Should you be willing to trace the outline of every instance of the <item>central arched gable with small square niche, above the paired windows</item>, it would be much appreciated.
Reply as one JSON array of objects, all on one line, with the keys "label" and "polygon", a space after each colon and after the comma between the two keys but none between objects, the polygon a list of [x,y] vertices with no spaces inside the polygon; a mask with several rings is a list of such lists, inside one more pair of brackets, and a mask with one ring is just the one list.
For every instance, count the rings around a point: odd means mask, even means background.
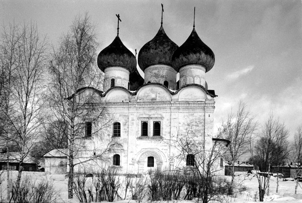
[{"label": "central arched gable with small square niche, above the paired windows", "polygon": [[163,86],[152,84],[138,90],[135,99],[139,101],[171,101],[170,92]]}]

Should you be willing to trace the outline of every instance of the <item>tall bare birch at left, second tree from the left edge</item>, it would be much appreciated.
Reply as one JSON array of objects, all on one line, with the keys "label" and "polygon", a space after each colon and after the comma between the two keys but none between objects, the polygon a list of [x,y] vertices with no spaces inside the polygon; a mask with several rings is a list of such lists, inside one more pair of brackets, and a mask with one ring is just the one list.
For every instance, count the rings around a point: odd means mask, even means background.
[{"label": "tall bare birch at left, second tree from the left edge", "polygon": [[30,23],[21,29],[16,59],[16,81],[12,84],[15,110],[8,116],[14,135],[11,141],[17,146],[20,157],[17,183],[20,183],[23,161],[30,155],[41,132],[43,114],[43,73],[47,61],[47,43],[40,38],[37,27]]}]

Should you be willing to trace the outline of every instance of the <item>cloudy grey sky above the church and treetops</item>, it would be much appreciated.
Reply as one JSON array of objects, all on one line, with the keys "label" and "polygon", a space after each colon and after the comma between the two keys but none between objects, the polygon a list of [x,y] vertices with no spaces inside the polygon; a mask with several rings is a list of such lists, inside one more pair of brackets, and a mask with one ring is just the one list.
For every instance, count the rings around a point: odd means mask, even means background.
[{"label": "cloudy grey sky above the church and treetops", "polygon": [[242,100],[259,127],[272,112],[286,124],[292,138],[302,124],[301,0],[0,0],[0,20],[4,25],[32,21],[39,34],[57,46],[75,16],[88,12],[101,51],[115,38],[115,14],[120,14],[120,39],[138,53],[160,28],[161,3],[164,30],[178,46],[192,31],[196,7],[196,32],[215,54],[214,67],[205,75],[209,89],[218,95],[214,131]]}]

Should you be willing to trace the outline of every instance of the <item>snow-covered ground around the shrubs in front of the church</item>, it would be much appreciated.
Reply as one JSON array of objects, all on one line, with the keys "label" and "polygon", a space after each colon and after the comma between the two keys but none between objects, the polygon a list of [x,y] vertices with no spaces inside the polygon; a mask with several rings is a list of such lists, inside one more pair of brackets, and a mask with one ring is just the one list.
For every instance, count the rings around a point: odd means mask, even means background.
[{"label": "snow-covered ground around the shrubs in front of the church", "polygon": [[[11,171],[11,176],[16,177],[17,171]],[[73,199],[68,199],[67,194],[67,183],[68,179],[65,179],[65,175],[46,175],[44,172],[23,172],[23,175],[31,176],[32,180],[42,180],[42,179],[50,179],[53,181],[55,189],[59,191],[61,199],[60,202],[79,202],[78,199],[74,196]],[[230,177],[228,177],[230,178]],[[3,182],[1,184],[2,187],[2,200],[5,201],[6,198],[6,172],[2,173]],[[254,202],[256,197],[256,201],[259,201],[259,193],[258,193],[258,181],[257,177],[249,178],[245,177],[245,175],[240,175],[235,177],[236,182],[240,182],[243,186],[246,187],[246,190],[243,192],[237,192],[232,197],[226,197],[225,202],[243,202],[243,203],[251,203]],[[275,177],[271,177],[270,180],[270,195],[265,195],[265,201],[269,202],[291,202],[291,203],[302,203],[302,188],[298,186],[297,194],[295,192],[295,181],[280,181],[279,182],[279,193],[276,193],[277,179]],[[302,186],[302,184],[301,184]],[[145,198],[145,201],[147,199]],[[116,202],[127,202],[127,203],[135,203],[135,201],[124,200],[124,201],[116,201]],[[170,202],[178,202],[178,203],[192,203],[194,201],[170,201]]]}]

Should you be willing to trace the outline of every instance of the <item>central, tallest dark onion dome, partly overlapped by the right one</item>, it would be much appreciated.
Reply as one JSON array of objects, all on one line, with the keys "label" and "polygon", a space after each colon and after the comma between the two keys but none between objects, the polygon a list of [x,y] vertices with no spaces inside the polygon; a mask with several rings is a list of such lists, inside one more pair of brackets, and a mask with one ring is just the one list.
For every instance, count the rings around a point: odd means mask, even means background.
[{"label": "central, tallest dark onion dome, partly overlapped by the right one", "polygon": [[138,53],[138,65],[144,71],[150,65],[164,64],[172,66],[171,59],[178,48],[160,26],[153,39],[147,42]]}]

